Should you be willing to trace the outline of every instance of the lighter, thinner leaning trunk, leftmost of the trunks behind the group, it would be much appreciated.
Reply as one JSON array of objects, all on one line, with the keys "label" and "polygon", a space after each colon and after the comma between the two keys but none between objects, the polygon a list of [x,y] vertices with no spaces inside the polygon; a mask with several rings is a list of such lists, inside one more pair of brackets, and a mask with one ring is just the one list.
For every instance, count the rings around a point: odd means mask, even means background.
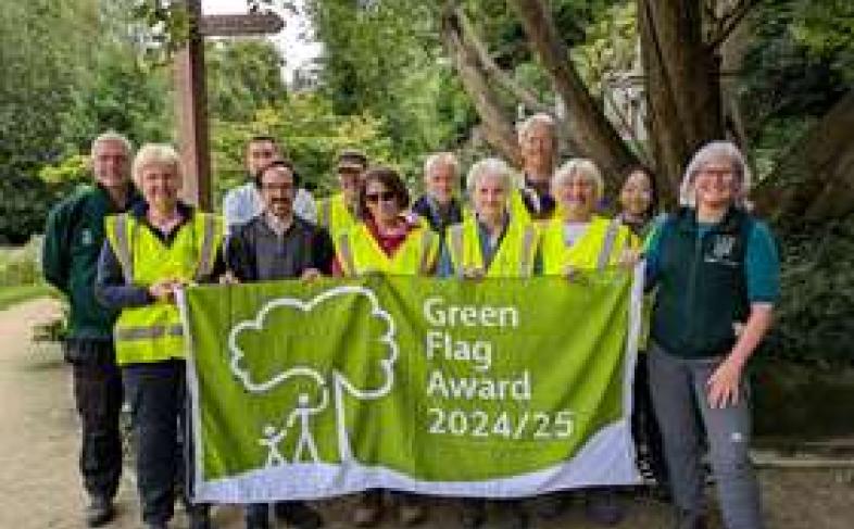
[{"label": "lighter, thinner leaning trunk, leftmost of the trunks behind the group", "polygon": [[511,164],[518,166],[522,159],[512,117],[493,90],[477,50],[464,38],[453,9],[442,13],[442,41],[480,116],[486,140]]}]

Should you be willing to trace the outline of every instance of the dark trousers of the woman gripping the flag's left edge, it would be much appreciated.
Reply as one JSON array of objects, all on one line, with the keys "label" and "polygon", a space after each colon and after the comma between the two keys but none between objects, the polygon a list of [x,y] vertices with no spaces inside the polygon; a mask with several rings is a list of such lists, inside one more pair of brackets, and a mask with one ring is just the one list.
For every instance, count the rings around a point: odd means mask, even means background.
[{"label": "dark trousers of the woman gripping the flag's left edge", "polygon": [[[142,520],[165,524],[174,514],[178,483],[187,483],[185,363],[179,360],[122,368],[137,449],[137,487]],[[186,491],[186,487],[183,492]],[[184,497],[185,503],[187,497]]]}]

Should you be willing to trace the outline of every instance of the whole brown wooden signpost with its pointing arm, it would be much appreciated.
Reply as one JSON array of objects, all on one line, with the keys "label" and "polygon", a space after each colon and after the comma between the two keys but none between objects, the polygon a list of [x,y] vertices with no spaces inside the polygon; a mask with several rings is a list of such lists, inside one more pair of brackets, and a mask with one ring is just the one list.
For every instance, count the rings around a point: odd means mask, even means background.
[{"label": "whole brown wooden signpost with its pointing arm", "polygon": [[185,171],[184,199],[202,211],[212,211],[204,37],[274,34],[285,27],[285,22],[275,13],[202,16],[201,0],[184,3],[190,17],[190,35],[186,46],[175,54],[175,110]]}]

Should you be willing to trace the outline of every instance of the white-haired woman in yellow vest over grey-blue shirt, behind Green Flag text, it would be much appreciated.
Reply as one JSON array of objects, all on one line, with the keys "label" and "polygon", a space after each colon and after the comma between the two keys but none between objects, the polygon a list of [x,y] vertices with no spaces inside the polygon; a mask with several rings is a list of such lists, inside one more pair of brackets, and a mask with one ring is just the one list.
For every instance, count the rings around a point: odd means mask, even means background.
[{"label": "white-haired woman in yellow vest over grey-blue shirt, behind Green Flag text", "polygon": [[[438,275],[464,280],[524,278],[539,270],[539,230],[529,215],[513,214],[511,197],[516,188],[507,164],[499,159],[477,162],[468,171],[466,187],[474,211],[463,224],[448,228]],[[528,527],[520,501],[495,501],[493,507],[501,527]],[[486,521],[486,500],[462,500],[462,527],[474,529]]]}]

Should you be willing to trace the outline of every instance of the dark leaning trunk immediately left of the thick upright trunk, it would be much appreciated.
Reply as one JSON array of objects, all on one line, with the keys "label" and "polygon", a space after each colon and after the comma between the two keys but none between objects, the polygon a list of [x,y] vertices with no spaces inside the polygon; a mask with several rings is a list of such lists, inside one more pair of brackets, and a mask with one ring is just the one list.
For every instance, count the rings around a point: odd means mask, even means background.
[{"label": "dark leaning trunk immediately left of the thick upright trunk", "polygon": [[618,175],[637,163],[637,159],[578,76],[545,2],[508,0],[508,3],[516,9],[532,50],[566,105],[565,128],[569,131],[569,141],[603,169],[610,182],[618,185]]}]

